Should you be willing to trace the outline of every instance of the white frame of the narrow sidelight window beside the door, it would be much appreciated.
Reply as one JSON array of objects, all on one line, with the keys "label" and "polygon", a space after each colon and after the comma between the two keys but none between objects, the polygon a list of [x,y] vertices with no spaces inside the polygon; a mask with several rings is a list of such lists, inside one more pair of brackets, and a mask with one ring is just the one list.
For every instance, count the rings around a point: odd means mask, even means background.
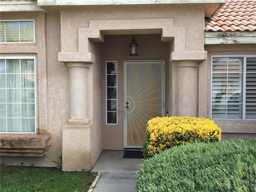
[{"label": "white frame of the narrow sidelight window beside the door", "polygon": [[[116,123],[108,123],[108,63],[116,63]],[[106,125],[117,125],[118,124],[118,62],[117,61],[106,61]],[[114,99],[113,99],[114,100]]]}]

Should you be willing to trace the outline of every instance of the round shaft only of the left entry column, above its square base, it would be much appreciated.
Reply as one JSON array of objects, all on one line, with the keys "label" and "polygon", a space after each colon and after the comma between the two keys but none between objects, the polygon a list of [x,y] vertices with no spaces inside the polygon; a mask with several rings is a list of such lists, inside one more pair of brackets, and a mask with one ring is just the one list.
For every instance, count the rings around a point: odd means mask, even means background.
[{"label": "round shaft only of the left entry column, above its square base", "polygon": [[91,64],[68,62],[70,73],[70,119],[68,124],[90,122],[88,101],[88,70]]}]

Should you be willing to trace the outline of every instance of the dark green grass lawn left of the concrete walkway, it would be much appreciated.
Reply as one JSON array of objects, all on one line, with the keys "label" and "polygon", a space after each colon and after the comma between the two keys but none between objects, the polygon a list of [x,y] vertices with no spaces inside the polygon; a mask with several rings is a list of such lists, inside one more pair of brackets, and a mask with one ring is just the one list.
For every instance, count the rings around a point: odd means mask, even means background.
[{"label": "dark green grass lawn left of the concrete walkway", "polygon": [[1,192],[87,192],[97,173],[62,172],[56,168],[4,166]]}]

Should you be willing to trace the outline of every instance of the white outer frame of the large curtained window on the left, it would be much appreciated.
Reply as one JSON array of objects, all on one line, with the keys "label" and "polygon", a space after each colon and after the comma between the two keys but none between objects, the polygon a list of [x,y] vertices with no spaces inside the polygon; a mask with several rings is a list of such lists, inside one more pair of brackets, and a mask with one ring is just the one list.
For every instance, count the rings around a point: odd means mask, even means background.
[{"label": "white outer frame of the large curtained window on the left", "polygon": [[[34,59],[34,121],[35,127],[34,132],[0,132],[0,134],[36,134],[37,133],[37,101],[36,101],[36,93],[37,93],[37,82],[36,82],[36,56],[0,56],[0,59]],[[6,74],[6,73],[5,73]],[[21,74],[21,73],[19,73]],[[5,88],[6,89],[6,88]],[[6,117],[7,118],[7,117]],[[20,117],[22,118],[22,117]]]}]

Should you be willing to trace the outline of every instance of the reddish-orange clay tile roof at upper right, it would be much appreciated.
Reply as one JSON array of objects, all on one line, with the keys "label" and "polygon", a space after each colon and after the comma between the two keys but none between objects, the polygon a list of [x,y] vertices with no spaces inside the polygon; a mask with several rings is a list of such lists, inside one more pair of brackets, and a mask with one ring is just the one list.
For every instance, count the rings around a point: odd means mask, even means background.
[{"label": "reddish-orange clay tile roof at upper right", "polygon": [[205,18],[205,31],[256,31],[256,0],[227,0],[212,18]]}]

